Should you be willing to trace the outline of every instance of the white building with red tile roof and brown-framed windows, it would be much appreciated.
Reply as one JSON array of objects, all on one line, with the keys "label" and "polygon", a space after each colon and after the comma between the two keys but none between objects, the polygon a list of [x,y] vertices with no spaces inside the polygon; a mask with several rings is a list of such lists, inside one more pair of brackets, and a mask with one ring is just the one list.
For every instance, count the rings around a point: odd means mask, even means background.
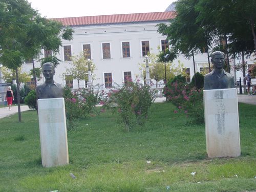
[{"label": "white building with red tile roof and brown-framed windows", "polygon": [[[139,63],[143,63],[147,52],[158,54],[168,46],[166,37],[157,32],[156,25],[168,24],[169,19],[174,17],[175,12],[166,11],[54,19],[74,30],[73,40],[63,40],[63,47],[56,55],[61,62],[56,68],[55,81],[63,85],[70,83],[73,88],[78,88],[77,80],[68,82],[62,74],[71,67],[69,56],[79,55],[86,49],[96,67],[93,85],[100,84],[102,88],[109,88],[113,83],[122,84],[126,78],[139,78],[143,82]],[[44,56],[46,53],[42,50],[42,57]],[[193,59],[185,59],[180,54],[174,60],[175,65],[179,61],[187,68],[189,82],[194,75]],[[207,68],[207,53],[195,55],[195,62],[196,72]],[[249,60],[248,64],[250,62],[253,63],[253,60]],[[231,61],[230,65],[233,63]],[[40,64],[35,62],[35,67],[40,67]],[[24,71],[29,71],[32,63],[25,63],[23,68]],[[240,76],[241,74],[236,75],[237,80]],[[39,83],[42,81],[44,79]],[[80,81],[80,87],[86,86],[85,80]]]}]

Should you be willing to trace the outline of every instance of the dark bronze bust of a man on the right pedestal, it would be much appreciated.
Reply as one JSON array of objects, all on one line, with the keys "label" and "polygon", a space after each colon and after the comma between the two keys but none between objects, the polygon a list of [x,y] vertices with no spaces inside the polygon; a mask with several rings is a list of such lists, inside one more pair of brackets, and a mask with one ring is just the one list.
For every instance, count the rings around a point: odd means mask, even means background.
[{"label": "dark bronze bust of a man on the right pedestal", "polygon": [[224,67],[225,55],[221,51],[211,54],[214,70],[204,76],[204,90],[234,88],[234,77]]}]

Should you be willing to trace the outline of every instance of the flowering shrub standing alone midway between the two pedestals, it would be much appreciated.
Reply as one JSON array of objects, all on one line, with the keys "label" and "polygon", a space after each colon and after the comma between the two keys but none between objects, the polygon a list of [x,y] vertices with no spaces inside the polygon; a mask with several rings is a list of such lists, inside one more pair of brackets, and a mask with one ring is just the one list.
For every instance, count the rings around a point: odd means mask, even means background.
[{"label": "flowering shrub standing alone midway between the two pedestals", "polygon": [[111,107],[120,114],[125,131],[131,131],[136,125],[144,124],[154,99],[155,93],[150,91],[150,86],[139,80],[129,81],[108,93],[104,107]]}]

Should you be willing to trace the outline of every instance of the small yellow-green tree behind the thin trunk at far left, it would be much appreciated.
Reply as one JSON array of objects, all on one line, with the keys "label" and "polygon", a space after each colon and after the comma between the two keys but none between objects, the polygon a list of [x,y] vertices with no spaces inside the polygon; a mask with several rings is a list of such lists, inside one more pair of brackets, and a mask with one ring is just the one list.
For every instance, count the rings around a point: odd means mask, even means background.
[{"label": "small yellow-green tree behind the thin trunk at far left", "polygon": [[[6,67],[3,67],[2,69],[2,73],[3,73],[3,79],[6,82],[12,82],[12,80],[15,78],[15,70],[9,70]],[[20,87],[20,83],[26,83],[28,81],[31,80],[31,75],[26,73],[26,72],[22,72],[22,68],[18,68],[18,82],[19,82],[19,87]]]}]

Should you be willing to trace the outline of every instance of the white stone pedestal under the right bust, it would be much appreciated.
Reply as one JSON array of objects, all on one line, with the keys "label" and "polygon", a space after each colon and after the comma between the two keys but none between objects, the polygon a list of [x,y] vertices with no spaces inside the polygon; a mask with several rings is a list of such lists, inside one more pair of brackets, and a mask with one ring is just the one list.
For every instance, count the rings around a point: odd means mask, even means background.
[{"label": "white stone pedestal under the right bust", "polygon": [[208,157],[240,156],[237,90],[204,90],[203,95]]}]

